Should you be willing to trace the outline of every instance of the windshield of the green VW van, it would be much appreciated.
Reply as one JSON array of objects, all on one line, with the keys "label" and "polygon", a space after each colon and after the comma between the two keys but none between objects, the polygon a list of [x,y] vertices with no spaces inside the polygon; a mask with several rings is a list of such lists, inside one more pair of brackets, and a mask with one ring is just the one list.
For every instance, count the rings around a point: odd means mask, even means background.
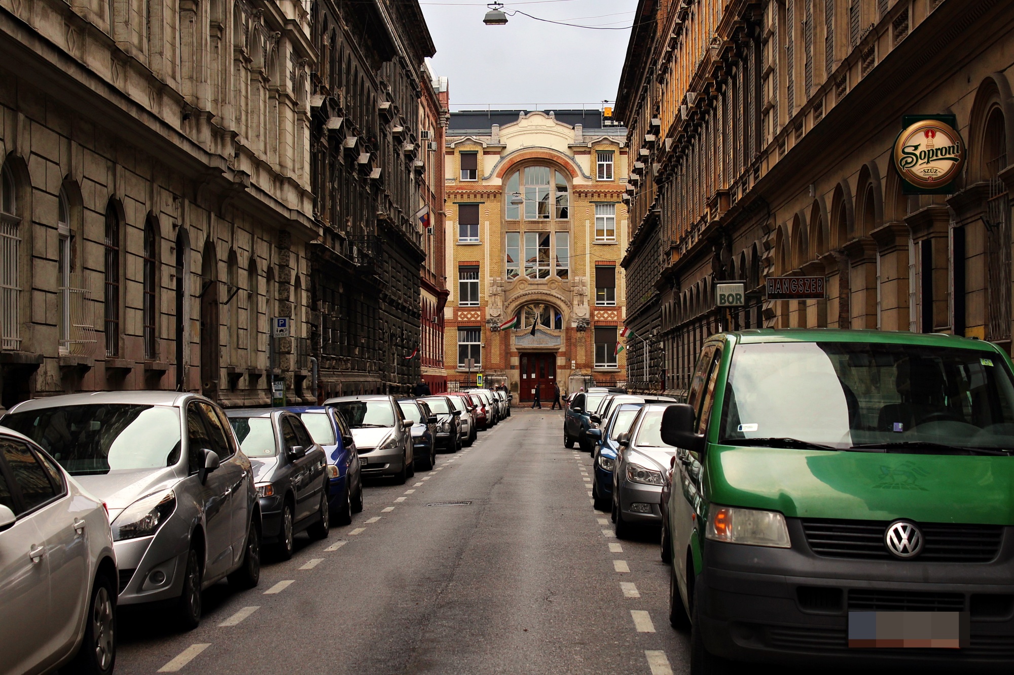
[{"label": "windshield of the green VW van", "polygon": [[732,355],[720,439],[831,448],[936,443],[1014,450],[1002,357],[916,345],[768,343]]}]

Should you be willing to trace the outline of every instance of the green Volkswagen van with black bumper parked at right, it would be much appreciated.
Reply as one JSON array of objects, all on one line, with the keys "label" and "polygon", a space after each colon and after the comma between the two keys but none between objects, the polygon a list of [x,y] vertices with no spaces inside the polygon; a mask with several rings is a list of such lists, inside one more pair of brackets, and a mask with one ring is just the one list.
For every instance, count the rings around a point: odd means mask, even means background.
[{"label": "green Volkswagen van with black bumper parked at right", "polygon": [[994,345],[876,330],[709,339],[662,439],[670,621],[731,661],[1014,665],[1014,379]]}]

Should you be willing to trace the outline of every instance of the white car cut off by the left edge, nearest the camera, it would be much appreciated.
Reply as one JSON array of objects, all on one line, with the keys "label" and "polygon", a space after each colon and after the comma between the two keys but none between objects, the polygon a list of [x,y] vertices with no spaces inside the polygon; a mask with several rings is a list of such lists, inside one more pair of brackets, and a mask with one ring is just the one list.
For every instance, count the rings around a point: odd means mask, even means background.
[{"label": "white car cut off by the left edge, nearest the camera", "polygon": [[112,673],[118,584],[105,505],[0,427],[0,673]]}]

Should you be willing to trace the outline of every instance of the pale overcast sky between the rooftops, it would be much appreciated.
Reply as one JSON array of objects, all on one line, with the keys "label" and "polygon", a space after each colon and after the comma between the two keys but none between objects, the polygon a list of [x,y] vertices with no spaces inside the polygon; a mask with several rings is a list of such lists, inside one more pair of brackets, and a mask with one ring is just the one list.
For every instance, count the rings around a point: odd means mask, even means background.
[{"label": "pale overcast sky between the rooftops", "polygon": [[421,0],[437,54],[431,66],[450,80],[451,109],[601,105],[617,95],[637,0],[524,0],[504,3],[539,18],[623,30],[588,30],[516,14],[486,25],[486,3]]}]

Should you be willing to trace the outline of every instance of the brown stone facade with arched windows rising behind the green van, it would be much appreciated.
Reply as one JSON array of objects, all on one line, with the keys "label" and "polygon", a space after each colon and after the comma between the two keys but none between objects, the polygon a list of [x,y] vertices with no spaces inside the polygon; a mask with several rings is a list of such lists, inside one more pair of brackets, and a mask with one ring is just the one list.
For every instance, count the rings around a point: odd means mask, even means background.
[{"label": "brown stone facade with arched windows rising behind the green van", "polygon": [[[650,167],[624,262],[653,289],[631,303],[657,326],[647,382],[685,390],[703,340],[728,327],[1010,350],[1010,3],[643,0],[635,25],[617,116]],[[952,195],[906,195],[891,165],[918,114],[956,116],[968,152]],[[766,298],[768,277],[792,275],[824,277],[826,298]],[[715,308],[720,280],[746,282],[744,308]]]}]

